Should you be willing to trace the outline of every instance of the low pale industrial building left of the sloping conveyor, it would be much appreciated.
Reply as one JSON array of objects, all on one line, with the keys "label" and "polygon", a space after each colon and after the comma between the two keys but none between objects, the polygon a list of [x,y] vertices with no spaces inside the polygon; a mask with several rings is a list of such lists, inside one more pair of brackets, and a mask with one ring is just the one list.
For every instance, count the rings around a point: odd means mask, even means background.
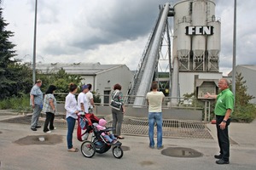
[{"label": "low pale industrial building left of the sloping conveyor", "polygon": [[37,64],[37,71],[47,74],[63,68],[68,74],[80,75],[84,84],[92,84],[92,91],[101,97],[102,104],[109,104],[109,94],[113,85],[119,83],[127,94],[133,72],[126,65],[101,65],[100,63],[51,63]]}]

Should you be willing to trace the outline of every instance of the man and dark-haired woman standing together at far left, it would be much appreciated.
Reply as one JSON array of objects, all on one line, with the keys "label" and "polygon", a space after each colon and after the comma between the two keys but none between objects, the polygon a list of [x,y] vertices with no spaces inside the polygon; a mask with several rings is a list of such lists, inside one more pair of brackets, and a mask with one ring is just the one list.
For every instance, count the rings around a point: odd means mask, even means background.
[{"label": "man and dark-haired woman standing together at far left", "polygon": [[44,133],[51,133],[51,130],[55,130],[54,119],[56,112],[56,99],[54,93],[56,87],[55,85],[50,85],[45,92],[45,95],[43,95],[40,89],[41,86],[42,81],[37,80],[30,92],[30,104],[33,109],[31,129],[32,131],[37,131],[37,128],[41,127],[38,125],[38,118],[41,111],[43,111],[46,114],[43,131]]}]

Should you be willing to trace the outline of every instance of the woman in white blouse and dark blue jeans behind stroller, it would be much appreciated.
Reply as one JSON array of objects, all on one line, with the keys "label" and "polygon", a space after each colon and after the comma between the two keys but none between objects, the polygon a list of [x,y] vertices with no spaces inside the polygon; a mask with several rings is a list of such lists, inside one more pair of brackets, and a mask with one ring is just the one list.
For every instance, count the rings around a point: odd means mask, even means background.
[{"label": "woman in white blouse and dark blue jeans behind stroller", "polygon": [[73,129],[78,119],[79,113],[78,102],[74,94],[78,91],[78,86],[74,83],[69,84],[69,94],[66,96],[65,109],[67,120],[67,149],[71,152],[79,151],[78,148],[73,147]]}]

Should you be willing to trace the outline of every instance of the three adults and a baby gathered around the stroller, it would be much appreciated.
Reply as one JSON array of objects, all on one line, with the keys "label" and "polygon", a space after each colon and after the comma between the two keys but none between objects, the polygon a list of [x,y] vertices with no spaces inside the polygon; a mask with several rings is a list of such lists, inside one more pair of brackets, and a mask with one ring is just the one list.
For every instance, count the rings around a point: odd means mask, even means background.
[{"label": "three adults and a baby gathered around the stroller", "polygon": [[[77,152],[79,149],[73,147],[73,129],[75,126],[75,122],[78,119],[78,114],[80,111],[84,111],[85,113],[92,113],[94,102],[93,95],[90,93],[91,84],[87,84],[82,86],[82,92],[78,96],[78,100],[75,97],[75,94],[78,91],[78,86],[74,83],[69,84],[69,94],[65,100],[65,110],[67,111],[66,120],[67,120],[67,150],[72,152]],[[115,84],[113,86],[115,93],[118,90],[118,94],[115,95],[115,100],[118,100],[120,103],[124,104],[123,94],[120,92],[121,86],[119,84]],[[124,118],[125,106],[122,105],[122,109],[120,111],[113,111],[113,134],[112,133],[104,133],[103,136],[105,139],[108,139],[109,142],[115,142],[116,139],[124,139],[124,137],[120,136],[121,126]],[[99,129],[104,129],[106,126],[106,121],[101,119],[99,121]]]}]

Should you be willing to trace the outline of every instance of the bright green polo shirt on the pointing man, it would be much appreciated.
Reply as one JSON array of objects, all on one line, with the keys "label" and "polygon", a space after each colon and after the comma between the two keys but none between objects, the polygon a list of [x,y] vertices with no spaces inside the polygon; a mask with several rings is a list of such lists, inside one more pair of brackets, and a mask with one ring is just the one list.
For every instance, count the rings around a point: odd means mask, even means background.
[{"label": "bright green polo shirt on the pointing man", "polygon": [[228,109],[234,111],[234,94],[230,88],[224,89],[218,94],[214,113],[218,116],[225,116]]}]

